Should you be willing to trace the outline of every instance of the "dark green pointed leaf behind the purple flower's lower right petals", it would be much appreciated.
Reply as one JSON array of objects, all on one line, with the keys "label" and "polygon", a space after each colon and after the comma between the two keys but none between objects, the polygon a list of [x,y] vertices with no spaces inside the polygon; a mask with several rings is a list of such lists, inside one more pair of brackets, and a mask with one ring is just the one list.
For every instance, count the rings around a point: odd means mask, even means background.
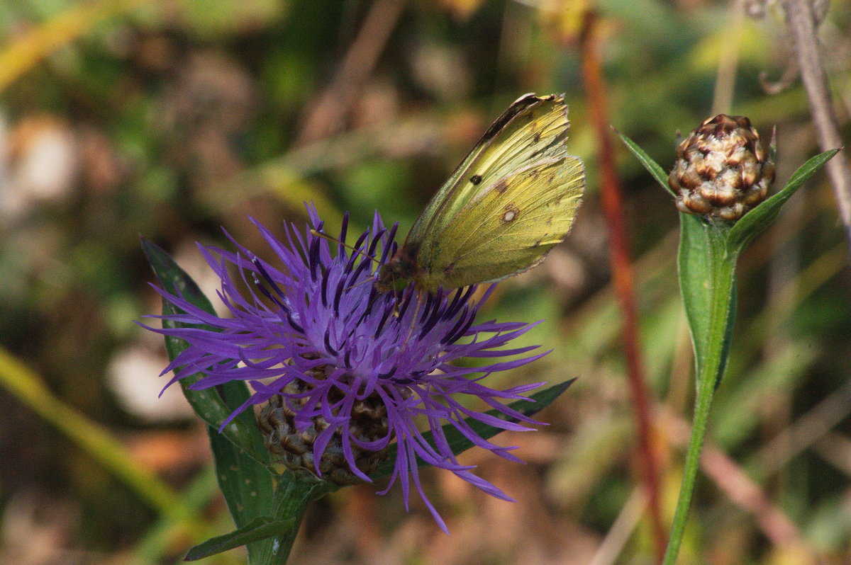
[{"label": "dark green pointed leaf behind the purple flower's lower right petals", "polygon": [[[552,404],[552,401],[558,398],[564,391],[568,390],[568,387],[574,383],[576,379],[571,379],[569,381],[564,381],[560,384],[553,385],[552,387],[547,387],[544,390],[538,391],[530,396],[530,400],[516,400],[511,404],[508,404],[511,409],[517,410],[518,412],[523,413],[524,415],[534,415],[540,412],[540,410],[544,410],[547,406]],[[485,412],[487,415],[495,416],[505,421],[516,421],[514,418],[509,418],[506,415],[502,414],[497,410],[488,410]],[[472,418],[465,418],[464,420],[468,426],[470,426],[479,436],[482,438],[488,439],[494,437],[497,433],[502,432],[503,430],[499,427],[488,426],[488,424],[484,424],[481,421],[473,420]],[[469,439],[465,438],[461,432],[459,432],[452,424],[446,424],[443,426],[443,433],[446,434],[446,439],[449,444],[449,447],[452,449],[452,452],[455,455],[460,454],[462,451],[466,449],[470,449],[473,444]],[[431,432],[426,432],[423,434],[426,440],[431,443]],[[378,479],[382,477],[389,477],[393,472],[393,466],[396,461],[396,449],[397,445],[391,445],[389,455],[387,455],[387,460],[384,461],[375,472],[369,477],[373,479]],[[417,466],[426,466],[426,462],[423,460],[417,459]]]}]

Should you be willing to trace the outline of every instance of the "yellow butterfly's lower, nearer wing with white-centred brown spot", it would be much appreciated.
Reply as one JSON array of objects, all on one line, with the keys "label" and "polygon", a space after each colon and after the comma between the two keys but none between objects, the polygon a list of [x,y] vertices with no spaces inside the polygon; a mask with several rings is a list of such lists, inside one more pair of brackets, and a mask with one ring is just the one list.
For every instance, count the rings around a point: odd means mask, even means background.
[{"label": "yellow butterfly's lower, nearer wing with white-centred brown spot", "polygon": [[[523,161],[521,161],[523,162]],[[479,192],[420,253],[421,289],[500,280],[540,263],[568,233],[585,187],[578,157],[528,162]]]}]

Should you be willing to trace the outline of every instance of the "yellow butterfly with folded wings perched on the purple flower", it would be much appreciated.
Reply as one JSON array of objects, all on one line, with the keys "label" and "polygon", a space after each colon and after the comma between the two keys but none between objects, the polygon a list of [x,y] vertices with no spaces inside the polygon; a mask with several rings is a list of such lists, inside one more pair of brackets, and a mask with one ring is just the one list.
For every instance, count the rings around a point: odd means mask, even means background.
[{"label": "yellow butterfly with folded wings perched on the purple flower", "polygon": [[585,166],[568,155],[563,96],[526,94],[488,127],[380,269],[379,291],[419,292],[505,279],[568,234]]}]

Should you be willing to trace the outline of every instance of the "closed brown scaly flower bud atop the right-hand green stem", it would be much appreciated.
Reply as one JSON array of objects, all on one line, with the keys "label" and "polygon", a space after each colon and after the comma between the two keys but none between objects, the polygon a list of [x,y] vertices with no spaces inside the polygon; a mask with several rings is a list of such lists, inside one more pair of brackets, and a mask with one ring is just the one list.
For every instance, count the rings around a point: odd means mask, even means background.
[{"label": "closed brown scaly flower bud atop the right-hand green stem", "polygon": [[765,200],[774,162],[745,116],[705,120],[677,147],[668,184],[677,209],[735,221]]}]

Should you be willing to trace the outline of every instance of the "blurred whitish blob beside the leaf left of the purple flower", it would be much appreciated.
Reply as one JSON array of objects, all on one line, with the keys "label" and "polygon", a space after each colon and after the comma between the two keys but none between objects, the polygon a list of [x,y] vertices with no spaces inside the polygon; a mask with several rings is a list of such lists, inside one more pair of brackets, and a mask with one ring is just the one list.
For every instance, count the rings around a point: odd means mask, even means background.
[{"label": "blurred whitish blob beside the leaf left of the purple flower", "polygon": [[[158,341],[162,344],[162,338]],[[164,354],[153,353],[139,344],[124,347],[112,357],[106,370],[107,383],[124,410],[151,423],[194,417],[180,385],[175,383],[159,396],[171,378],[170,373],[158,376],[166,364],[168,359]]]}]

